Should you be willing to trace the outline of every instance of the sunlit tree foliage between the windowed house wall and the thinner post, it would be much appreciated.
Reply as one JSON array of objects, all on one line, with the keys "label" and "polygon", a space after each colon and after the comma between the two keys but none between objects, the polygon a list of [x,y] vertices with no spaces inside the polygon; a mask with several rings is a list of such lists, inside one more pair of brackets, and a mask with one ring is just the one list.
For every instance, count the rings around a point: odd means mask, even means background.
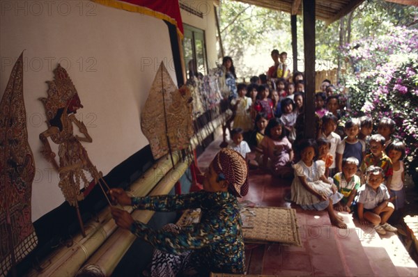
[{"label": "sunlit tree foliage between the windowed house wall and the thinner post", "polygon": [[224,54],[233,58],[238,77],[265,73],[272,49],[291,52],[289,14],[238,1],[222,1],[219,13]]}]

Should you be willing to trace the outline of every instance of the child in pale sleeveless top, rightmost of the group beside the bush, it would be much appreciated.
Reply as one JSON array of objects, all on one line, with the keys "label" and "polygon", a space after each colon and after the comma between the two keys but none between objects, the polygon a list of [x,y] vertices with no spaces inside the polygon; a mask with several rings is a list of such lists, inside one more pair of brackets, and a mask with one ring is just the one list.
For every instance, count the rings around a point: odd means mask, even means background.
[{"label": "child in pale sleeveless top, rightmost of the group beside the bush", "polygon": [[402,209],[405,204],[405,171],[403,166],[403,157],[405,157],[405,144],[402,141],[393,141],[386,148],[387,155],[392,160],[393,173],[392,182],[390,182],[389,193],[394,197],[395,210]]}]

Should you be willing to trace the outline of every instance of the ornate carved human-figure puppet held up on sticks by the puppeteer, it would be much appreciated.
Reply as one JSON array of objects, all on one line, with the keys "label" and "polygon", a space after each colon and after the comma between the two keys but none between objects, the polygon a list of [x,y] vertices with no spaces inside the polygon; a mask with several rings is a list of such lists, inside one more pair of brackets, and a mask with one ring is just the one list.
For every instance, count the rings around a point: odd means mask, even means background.
[{"label": "ornate carved human-figure puppet held up on sticks by the puppeteer", "polygon": [[[96,184],[101,177],[80,143],[80,141],[91,143],[93,140],[84,123],[75,117],[77,110],[83,106],[74,84],[61,65],[54,70],[54,81],[47,81],[47,84],[48,97],[40,99],[45,106],[48,125],[48,129],[39,135],[43,144],[42,154],[59,172],[59,187],[65,200],[77,207],[77,201],[84,199],[80,185],[83,184],[83,187],[87,188]],[[84,136],[73,133],[73,123]],[[52,152],[48,138],[59,145],[59,164],[56,162],[56,155]],[[88,176],[93,177],[91,182],[88,181]]]}]

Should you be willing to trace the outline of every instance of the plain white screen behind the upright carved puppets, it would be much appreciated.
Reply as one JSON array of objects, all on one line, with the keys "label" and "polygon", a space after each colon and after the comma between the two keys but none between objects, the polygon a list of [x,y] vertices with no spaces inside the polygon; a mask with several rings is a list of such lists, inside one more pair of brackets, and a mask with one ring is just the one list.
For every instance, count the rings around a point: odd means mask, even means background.
[{"label": "plain white screen behind the upright carved puppets", "polygon": [[[35,156],[32,220],[63,203],[59,177],[40,155],[47,129],[45,81],[58,62],[67,69],[84,105],[77,117],[93,143],[83,143],[104,175],[148,144],[140,113],[161,61],[176,74],[167,24],[91,1],[0,1],[0,97],[15,60],[24,52],[24,102]],[[168,63],[168,65],[167,65]],[[176,82],[176,81],[175,81]],[[52,143],[53,144],[53,143]]]}]

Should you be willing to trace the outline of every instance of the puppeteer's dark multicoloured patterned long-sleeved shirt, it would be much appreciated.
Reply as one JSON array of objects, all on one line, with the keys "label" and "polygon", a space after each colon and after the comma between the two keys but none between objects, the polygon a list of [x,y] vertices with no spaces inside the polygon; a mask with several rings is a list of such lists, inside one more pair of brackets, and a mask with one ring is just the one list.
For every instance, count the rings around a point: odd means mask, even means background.
[{"label": "puppeteer's dark multicoloured patterned long-sleeved shirt", "polygon": [[194,251],[196,268],[212,272],[239,273],[245,270],[244,240],[238,200],[229,192],[197,191],[176,196],[132,198],[136,209],[172,212],[201,208],[199,223],[183,226],[180,232],[153,230],[134,221],[131,232],[160,251],[178,255]]}]

